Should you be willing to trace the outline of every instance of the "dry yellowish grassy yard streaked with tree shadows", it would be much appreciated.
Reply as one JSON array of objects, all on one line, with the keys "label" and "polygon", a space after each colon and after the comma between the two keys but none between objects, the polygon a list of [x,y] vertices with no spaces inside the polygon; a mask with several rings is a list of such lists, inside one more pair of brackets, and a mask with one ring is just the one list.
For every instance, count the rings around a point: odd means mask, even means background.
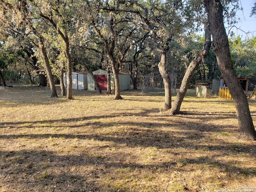
[{"label": "dry yellowish grassy yard streaked with tree shadows", "polygon": [[190,92],[169,116],[163,91],[0,89],[0,192],[256,191],[256,142],[238,140],[233,102]]}]

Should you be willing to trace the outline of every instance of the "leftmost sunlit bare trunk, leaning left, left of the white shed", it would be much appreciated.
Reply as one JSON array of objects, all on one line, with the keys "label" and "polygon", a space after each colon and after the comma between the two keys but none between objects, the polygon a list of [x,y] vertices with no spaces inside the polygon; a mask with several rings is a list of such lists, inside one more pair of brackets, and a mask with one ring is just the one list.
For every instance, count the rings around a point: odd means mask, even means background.
[{"label": "leftmost sunlit bare trunk, leaning left, left of the white shed", "polygon": [[50,67],[50,62],[48,60],[48,56],[47,56],[45,47],[42,43],[40,44],[40,50],[41,50],[42,55],[44,57],[45,68],[46,68],[46,72],[47,72],[47,75],[48,75],[48,80],[49,80],[49,83],[50,83],[50,89],[52,91],[51,97],[58,97],[56,87],[55,87],[55,84],[54,84],[54,78],[52,76],[52,70],[51,70],[51,67]]}]

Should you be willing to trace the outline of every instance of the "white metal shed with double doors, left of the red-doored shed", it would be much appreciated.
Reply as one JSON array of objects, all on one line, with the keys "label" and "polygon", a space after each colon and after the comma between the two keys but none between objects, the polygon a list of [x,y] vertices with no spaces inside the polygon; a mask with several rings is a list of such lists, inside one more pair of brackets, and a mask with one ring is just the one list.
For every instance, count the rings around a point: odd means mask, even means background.
[{"label": "white metal shed with double doors, left of the red-doored shed", "polygon": [[[72,72],[72,89],[84,90],[87,89],[88,72]],[[67,88],[67,72],[63,74],[63,82]]]}]

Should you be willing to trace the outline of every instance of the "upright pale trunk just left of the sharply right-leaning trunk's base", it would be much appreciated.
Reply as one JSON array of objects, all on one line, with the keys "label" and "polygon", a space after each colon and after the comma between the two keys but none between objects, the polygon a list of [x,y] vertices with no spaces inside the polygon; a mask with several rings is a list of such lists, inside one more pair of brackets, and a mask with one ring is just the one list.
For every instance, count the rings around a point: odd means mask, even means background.
[{"label": "upright pale trunk just left of the sharply right-leaning trunk's base", "polygon": [[172,107],[172,85],[170,81],[170,76],[166,72],[166,60],[166,51],[162,50],[161,60],[158,63],[158,69],[164,80],[164,110],[168,110]]}]

